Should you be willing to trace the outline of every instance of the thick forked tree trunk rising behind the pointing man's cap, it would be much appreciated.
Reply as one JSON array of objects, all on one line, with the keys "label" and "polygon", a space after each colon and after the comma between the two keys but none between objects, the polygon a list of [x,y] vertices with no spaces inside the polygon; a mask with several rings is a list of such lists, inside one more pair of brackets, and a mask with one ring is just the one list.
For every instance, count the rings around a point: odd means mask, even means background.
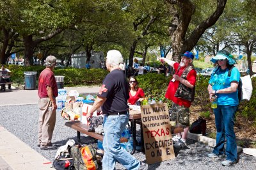
[{"label": "thick forked tree trunk rising behind the pointing man's cap", "polygon": [[173,13],[173,19],[169,27],[172,38],[172,58],[174,61],[179,61],[180,54],[186,50],[192,50],[204,31],[216,23],[223,13],[227,0],[217,0],[214,13],[196,26],[188,39],[186,39],[186,33],[191,22],[191,16],[195,13],[195,5],[189,0],[166,0],[166,3],[170,4],[170,12]]}]

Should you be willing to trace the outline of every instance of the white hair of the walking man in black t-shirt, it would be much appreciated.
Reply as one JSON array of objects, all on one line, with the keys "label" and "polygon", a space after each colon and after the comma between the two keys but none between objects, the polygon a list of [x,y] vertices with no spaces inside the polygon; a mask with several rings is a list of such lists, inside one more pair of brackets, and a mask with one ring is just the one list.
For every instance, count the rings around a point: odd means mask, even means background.
[{"label": "white hair of the walking man in black t-shirt", "polygon": [[108,62],[109,65],[112,67],[117,67],[117,66],[119,67],[120,65],[121,67],[123,67],[122,65],[124,65],[123,64],[124,58],[122,57],[121,52],[119,52],[118,50],[109,50],[107,53],[106,62]]}]

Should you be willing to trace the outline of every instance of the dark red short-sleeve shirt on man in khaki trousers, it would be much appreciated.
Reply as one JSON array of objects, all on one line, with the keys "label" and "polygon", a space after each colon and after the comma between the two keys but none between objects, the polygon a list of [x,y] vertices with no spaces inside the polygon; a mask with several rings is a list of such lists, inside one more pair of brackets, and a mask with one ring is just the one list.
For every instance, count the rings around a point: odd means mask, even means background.
[{"label": "dark red short-sleeve shirt on man in khaki trousers", "polygon": [[39,75],[38,79],[38,97],[45,98],[48,97],[47,94],[47,86],[52,88],[53,96],[58,97],[58,86],[56,79],[54,77],[54,73],[50,70],[45,68]]}]

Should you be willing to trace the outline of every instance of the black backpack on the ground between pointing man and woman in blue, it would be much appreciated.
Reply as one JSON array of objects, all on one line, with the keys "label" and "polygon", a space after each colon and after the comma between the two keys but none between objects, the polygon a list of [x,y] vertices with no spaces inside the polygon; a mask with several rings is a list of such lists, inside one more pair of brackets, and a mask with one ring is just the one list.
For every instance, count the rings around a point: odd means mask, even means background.
[{"label": "black backpack on the ground between pointing man and woman in blue", "polygon": [[189,129],[190,133],[206,135],[206,120],[199,118],[194,121]]}]

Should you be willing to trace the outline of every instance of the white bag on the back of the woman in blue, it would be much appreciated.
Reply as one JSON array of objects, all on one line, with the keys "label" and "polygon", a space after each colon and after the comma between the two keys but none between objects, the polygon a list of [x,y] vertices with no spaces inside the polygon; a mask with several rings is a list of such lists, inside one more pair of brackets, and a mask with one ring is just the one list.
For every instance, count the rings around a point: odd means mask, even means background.
[{"label": "white bag on the back of the woman in blue", "polygon": [[242,95],[241,100],[250,100],[252,97],[252,79],[250,75],[246,75],[244,77],[241,77],[242,82]]}]

